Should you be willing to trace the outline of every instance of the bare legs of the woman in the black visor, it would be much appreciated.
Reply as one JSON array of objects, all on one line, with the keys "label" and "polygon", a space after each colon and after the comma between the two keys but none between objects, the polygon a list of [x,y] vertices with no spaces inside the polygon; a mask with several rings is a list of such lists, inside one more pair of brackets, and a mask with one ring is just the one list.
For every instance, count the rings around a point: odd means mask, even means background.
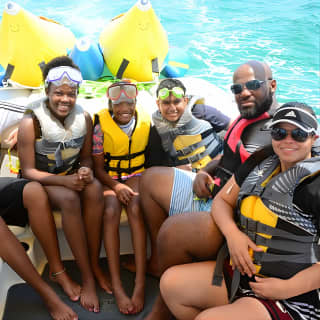
[{"label": "bare legs of the woman in the black visor", "polygon": [[267,309],[254,298],[228,304],[225,284],[211,284],[214,267],[214,261],[198,262],[172,267],[163,274],[161,293],[177,319],[271,319]]}]

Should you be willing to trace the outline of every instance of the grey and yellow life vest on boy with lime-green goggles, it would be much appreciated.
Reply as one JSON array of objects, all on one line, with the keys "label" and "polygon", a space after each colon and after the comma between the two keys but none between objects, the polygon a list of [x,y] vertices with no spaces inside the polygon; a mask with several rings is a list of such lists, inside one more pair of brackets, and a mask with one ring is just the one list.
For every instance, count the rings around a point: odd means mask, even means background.
[{"label": "grey and yellow life vest on boy with lime-green goggles", "polygon": [[159,110],[153,113],[153,123],[161,137],[162,147],[177,165],[189,164],[195,169],[205,167],[221,153],[223,143],[208,121],[197,119],[191,108],[198,97],[193,97],[180,119],[172,123]]}]

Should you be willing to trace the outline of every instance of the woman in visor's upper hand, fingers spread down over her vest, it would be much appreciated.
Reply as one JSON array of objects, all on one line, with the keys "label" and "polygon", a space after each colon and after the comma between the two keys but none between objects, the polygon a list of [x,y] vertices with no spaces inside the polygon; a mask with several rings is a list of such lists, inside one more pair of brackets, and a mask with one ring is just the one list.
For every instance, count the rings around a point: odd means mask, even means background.
[{"label": "woman in visor's upper hand, fingers spread down over her vest", "polygon": [[256,267],[252,262],[249,250],[263,251],[247,235],[240,230],[226,237],[232,261],[232,269],[237,268],[242,275],[252,277],[256,273]]}]

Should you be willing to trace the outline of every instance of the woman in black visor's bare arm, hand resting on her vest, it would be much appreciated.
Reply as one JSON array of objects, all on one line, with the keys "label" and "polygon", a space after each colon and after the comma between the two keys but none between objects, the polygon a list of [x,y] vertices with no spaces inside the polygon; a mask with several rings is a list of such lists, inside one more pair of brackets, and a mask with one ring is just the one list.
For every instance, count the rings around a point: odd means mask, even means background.
[{"label": "woman in black visor's bare arm, hand resting on her vest", "polygon": [[211,215],[217,226],[225,236],[232,260],[232,268],[237,268],[241,274],[252,276],[256,268],[249,255],[249,249],[262,251],[254,242],[238,229],[233,213],[236,208],[240,187],[234,176],[216,195],[211,208]]}]

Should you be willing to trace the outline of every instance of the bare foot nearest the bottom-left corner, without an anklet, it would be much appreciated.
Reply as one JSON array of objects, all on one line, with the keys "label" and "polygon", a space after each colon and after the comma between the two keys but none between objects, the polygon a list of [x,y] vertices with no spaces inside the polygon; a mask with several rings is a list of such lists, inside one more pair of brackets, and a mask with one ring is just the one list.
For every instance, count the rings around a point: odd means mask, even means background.
[{"label": "bare foot nearest the bottom-left corner, without an anklet", "polygon": [[63,303],[55,293],[50,294],[48,298],[44,298],[44,302],[54,320],[78,320],[77,314]]}]

